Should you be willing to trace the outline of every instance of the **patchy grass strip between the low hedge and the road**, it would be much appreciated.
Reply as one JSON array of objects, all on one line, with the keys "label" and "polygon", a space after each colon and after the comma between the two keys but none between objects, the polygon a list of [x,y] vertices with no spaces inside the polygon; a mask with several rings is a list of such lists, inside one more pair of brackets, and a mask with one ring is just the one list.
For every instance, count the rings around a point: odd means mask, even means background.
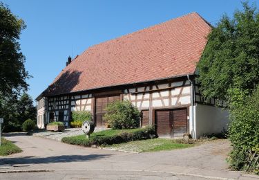
[{"label": "patchy grass strip between the low hedge and the road", "polygon": [[102,147],[129,152],[157,152],[163,150],[178,150],[193,146],[193,144],[175,143],[175,141],[171,139],[153,138],[142,141],[106,145]]}]

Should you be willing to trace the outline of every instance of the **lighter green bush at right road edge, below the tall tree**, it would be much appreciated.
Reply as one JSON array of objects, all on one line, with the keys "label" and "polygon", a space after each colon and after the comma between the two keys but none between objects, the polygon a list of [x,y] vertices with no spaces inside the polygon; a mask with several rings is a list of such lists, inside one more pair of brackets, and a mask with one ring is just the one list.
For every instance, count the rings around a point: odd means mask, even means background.
[{"label": "lighter green bush at right road edge, below the tall tree", "polygon": [[259,173],[258,165],[253,164],[255,159],[251,157],[251,154],[259,156],[259,87],[247,98],[238,91],[232,93],[233,97],[242,101],[234,101],[231,106],[229,139],[233,151],[229,163],[235,170],[247,170],[247,165],[251,164],[249,171]]}]

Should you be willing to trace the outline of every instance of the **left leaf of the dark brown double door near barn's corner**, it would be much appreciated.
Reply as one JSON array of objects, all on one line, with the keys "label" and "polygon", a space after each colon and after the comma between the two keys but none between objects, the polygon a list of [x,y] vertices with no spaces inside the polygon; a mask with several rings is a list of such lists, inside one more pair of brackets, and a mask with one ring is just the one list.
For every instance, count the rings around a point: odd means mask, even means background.
[{"label": "left leaf of the dark brown double door near barn's corner", "polygon": [[155,111],[155,129],[160,137],[171,137],[171,120],[169,110]]}]

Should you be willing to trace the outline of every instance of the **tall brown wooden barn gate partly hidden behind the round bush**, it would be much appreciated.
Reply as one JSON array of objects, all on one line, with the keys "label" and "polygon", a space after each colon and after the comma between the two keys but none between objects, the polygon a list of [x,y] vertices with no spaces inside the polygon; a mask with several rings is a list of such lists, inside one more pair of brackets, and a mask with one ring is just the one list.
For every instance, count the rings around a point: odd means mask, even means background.
[{"label": "tall brown wooden barn gate partly hidden behind the round bush", "polygon": [[95,102],[95,125],[96,126],[105,126],[106,125],[106,120],[104,118],[104,115],[106,114],[106,107],[108,103],[111,103],[115,100],[119,100],[119,95],[116,96],[105,96],[105,97],[99,97],[96,98]]}]

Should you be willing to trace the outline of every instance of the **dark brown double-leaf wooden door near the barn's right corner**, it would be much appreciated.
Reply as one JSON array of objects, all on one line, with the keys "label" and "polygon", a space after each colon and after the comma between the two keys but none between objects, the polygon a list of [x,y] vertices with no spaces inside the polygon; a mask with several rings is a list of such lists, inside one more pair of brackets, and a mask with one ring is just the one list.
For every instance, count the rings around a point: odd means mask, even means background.
[{"label": "dark brown double-leaf wooden door near the barn's right corner", "polygon": [[187,132],[186,109],[155,111],[155,127],[158,136],[182,137]]}]

